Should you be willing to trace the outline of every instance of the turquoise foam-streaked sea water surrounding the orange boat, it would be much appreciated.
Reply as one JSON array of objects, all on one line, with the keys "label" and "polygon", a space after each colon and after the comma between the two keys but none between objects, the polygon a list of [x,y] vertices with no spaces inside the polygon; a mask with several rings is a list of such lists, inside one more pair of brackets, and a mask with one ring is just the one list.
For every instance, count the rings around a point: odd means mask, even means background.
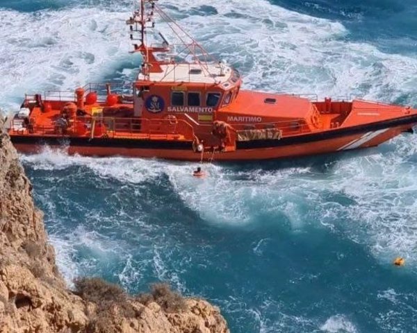
[{"label": "turquoise foam-streaked sea water surrounding the orange boat", "polygon": [[[160,3],[248,88],[417,104],[414,1]],[[0,8],[3,108],[26,91],[134,77],[130,1]],[[219,305],[233,333],[417,330],[415,135],[360,153],[210,164],[204,180],[190,177],[197,164],[47,148],[22,162],[68,281],[98,275],[132,293],[169,281]]]}]

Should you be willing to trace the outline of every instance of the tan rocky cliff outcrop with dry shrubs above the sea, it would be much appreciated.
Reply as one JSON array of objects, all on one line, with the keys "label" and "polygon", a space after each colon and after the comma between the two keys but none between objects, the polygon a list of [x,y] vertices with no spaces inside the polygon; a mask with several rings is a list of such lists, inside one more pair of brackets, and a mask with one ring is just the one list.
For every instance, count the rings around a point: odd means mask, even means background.
[{"label": "tan rocky cliff outcrop with dry shrubs above the sea", "polygon": [[168,311],[157,298],[126,296],[104,307],[67,289],[31,191],[0,119],[0,332],[229,332],[204,300],[184,298],[181,309]]}]

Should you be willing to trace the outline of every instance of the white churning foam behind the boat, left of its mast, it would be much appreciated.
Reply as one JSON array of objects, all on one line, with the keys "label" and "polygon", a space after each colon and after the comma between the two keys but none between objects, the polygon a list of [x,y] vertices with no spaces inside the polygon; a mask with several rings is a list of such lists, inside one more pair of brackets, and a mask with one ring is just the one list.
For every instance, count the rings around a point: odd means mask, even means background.
[{"label": "white churning foam behind the boat, left of its mast", "polygon": [[0,107],[17,108],[25,92],[73,91],[112,74],[129,59],[129,9],[1,10]]}]

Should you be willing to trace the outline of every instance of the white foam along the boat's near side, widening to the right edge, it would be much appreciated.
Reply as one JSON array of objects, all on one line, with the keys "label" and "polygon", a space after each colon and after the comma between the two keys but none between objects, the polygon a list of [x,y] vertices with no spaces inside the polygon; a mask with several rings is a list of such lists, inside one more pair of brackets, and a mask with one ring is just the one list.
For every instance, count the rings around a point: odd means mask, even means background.
[{"label": "white foam along the boat's near side, widening to the right edge", "polygon": [[[221,165],[204,164],[208,173],[196,179],[191,173],[198,164],[172,163],[123,157],[97,159],[68,156],[46,148],[40,155],[23,155],[34,169],[54,170],[83,166],[101,178],[141,183],[167,175],[185,205],[202,219],[216,224],[258,223],[260,214],[300,230],[311,217],[369,248],[382,263],[394,257],[416,265],[417,210],[415,169],[407,163],[417,149],[414,137],[395,140],[396,151],[339,160],[325,174],[311,167],[263,171],[236,171]],[[339,194],[349,205],[329,200],[323,193]],[[276,218],[273,216],[277,216]]]}]

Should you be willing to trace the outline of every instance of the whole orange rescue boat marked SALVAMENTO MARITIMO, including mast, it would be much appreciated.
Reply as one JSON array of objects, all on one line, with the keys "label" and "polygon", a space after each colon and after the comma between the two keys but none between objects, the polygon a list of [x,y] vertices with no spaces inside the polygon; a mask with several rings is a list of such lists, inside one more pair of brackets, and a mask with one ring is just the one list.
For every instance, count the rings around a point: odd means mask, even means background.
[{"label": "whole orange rescue boat marked SALVAMENTO MARITIMO, including mast", "polygon": [[[147,41],[155,15],[181,44],[161,33],[158,44]],[[417,123],[410,107],[240,89],[238,71],[211,58],[156,0],[141,0],[126,24],[143,58],[135,82],[26,95],[6,120],[19,151],[46,144],[80,155],[265,160],[377,146]]]}]

